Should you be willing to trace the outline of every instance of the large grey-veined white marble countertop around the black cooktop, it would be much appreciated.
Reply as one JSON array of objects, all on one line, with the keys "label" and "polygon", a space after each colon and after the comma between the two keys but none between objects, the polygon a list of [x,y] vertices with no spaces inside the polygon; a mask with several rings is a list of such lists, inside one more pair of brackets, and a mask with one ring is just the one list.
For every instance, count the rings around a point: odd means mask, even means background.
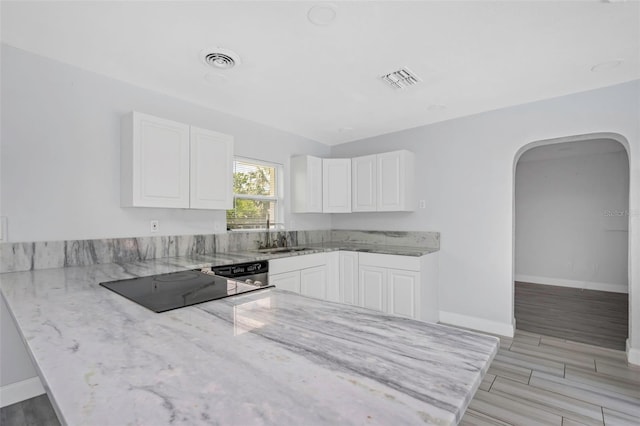
[{"label": "large grey-veined white marble countertop around the black cooktop", "polygon": [[0,274],[63,423],[457,423],[498,340],[266,289],[162,314],[99,282],[233,254]]}]

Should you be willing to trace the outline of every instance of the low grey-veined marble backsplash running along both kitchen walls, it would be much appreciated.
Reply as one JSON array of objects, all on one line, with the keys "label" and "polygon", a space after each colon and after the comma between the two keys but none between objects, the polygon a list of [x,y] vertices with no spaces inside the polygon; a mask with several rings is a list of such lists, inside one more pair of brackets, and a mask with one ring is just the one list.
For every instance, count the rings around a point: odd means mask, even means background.
[{"label": "low grey-veined marble backsplash running along both kitchen walls", "polygon": [[[314,246],[325,250],[369,244],[379,253],[420,256],[440,247],[437,232],[272,231],[0,243],[0,273],[66,266],[127,263],[170,257],[217,255],[266,246]],[[360,247],[359,249],[362,249]],[[416,251],[417,249],[417,251]],[[422,254],[420,254],[422,250]],[[427,250],[427,251],[425,251]],[[400,253],[398,253],[400,252]],[[417,253],[417,254],[416,254]]]}]

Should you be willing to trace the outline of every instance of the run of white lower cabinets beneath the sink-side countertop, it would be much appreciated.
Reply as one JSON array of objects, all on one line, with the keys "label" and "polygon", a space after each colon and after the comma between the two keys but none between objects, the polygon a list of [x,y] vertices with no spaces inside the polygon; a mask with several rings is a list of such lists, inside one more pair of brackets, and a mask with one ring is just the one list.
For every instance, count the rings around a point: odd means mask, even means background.
[{"label": "run of white lower cabinets beneath the sink-side countertop", "polygon": [[269,284],[322,300],[438,321],[438,254],[339,251],[269,261]]}]

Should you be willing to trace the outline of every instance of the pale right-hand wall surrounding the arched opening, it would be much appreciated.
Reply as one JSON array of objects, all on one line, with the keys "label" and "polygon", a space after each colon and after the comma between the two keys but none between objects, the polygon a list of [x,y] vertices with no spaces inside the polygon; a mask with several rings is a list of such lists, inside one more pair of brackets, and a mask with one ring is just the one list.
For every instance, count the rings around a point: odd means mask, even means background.
[{"label": "pale right-hand wall surrounding the arched opening", "polygon": [[442,319],[507,332],[513,325],[516,156],[536,141],[618,133],[630,149],[630,333],[640,363],[639,103],[640,81],[634,81],[336,146],[332,155],[345,157],[413,151],[416,201],[427,200],[427,208],[336,215],[333,227],[440,231]]}]

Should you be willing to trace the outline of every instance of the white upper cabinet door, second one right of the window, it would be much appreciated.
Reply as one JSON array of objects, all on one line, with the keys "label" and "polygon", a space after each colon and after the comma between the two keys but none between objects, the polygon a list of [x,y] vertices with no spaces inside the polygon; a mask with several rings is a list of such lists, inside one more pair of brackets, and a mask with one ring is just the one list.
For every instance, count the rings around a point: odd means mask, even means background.
[{"label": "white upper cabinet door, second one right of the window", "polygon": [[351,212],[351,159],[322,159],[322,211]]}]

